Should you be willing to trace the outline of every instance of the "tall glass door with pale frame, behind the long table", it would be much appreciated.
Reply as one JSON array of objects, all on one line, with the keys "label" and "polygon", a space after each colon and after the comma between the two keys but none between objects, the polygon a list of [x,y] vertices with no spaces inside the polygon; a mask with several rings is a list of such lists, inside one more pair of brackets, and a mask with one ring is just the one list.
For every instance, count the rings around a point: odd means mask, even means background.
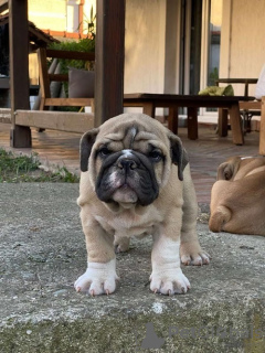
[{"label": "tall glass door with pale frame, behind the long table", "polygon": [[[215,85],[220,67],[222,3],[222,0],[180,2],[179,94],[197,95],[206,86]],[[200,110],[205,114],[214,109]]]}]

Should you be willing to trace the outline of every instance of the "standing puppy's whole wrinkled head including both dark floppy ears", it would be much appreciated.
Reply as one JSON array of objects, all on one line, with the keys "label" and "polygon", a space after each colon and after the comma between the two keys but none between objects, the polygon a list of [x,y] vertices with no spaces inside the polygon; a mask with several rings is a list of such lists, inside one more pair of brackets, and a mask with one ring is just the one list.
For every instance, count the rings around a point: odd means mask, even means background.
[{"label": "standing puppy's whole wrinkled head including both dark floppy ears", "polygon": [[149,205],[178,164],[182,180],[180,139],[148,116],[121,115],[81,140],[81,170],[89,171],[97,197],[106,203]]}]

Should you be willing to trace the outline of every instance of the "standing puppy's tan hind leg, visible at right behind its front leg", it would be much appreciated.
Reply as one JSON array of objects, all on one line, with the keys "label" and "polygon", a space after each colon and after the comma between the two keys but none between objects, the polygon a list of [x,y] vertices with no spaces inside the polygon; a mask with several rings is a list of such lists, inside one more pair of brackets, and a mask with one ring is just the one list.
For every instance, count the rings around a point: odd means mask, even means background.
[{"label": "standing puppy's tan hind leg, visible at right behind its front leg", "polygon": [[181,263],[184,265],[208,265],[210,263],[210,255],[202,250],[197,235],[198,203],[190,174],[190,164],[184,169],[182,211],[180,237]]}]

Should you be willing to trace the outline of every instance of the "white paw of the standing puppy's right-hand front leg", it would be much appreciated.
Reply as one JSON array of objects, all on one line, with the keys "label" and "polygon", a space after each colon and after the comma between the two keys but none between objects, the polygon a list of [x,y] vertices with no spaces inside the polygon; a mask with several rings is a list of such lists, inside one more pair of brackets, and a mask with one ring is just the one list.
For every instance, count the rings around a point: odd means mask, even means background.
[{"label": "white paw of the standing puppy's right-hand front leg", "polygon": [[180,268],[152,271],[150,281],[151,291],[166,296],[182,295],[190,289],[189,279],[182,274]]}]

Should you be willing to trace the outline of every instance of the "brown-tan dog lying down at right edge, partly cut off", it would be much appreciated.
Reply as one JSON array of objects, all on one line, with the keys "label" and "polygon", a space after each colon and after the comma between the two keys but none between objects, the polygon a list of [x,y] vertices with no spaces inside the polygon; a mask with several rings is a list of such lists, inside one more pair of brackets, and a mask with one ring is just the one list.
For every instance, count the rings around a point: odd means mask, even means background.
[{"label": "brown-tan dog lying down at right edge, partly cut off", "polygon": [[219,165],[211,194],[212,232],[265,235],[265,158],[232,157]]}]

